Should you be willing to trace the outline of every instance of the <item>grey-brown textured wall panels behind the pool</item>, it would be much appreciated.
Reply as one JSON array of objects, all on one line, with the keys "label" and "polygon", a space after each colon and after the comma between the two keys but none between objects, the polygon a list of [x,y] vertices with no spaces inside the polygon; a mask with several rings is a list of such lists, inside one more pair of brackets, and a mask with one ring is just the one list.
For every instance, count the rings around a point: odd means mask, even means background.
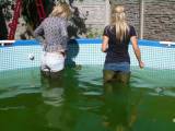
[{"label": "grey-brown textured wall panels behind the pool", "polygon": [[[140,36],[141,0],[110,0],[110,7],[124,4],[129,24],[133,25]],[[84,0],[74,2],[80,12],[88,12],[86,25],[103,28],[108,19],[105,0]],[[143,0],[144,39],[175,41],[175,0]]]}]

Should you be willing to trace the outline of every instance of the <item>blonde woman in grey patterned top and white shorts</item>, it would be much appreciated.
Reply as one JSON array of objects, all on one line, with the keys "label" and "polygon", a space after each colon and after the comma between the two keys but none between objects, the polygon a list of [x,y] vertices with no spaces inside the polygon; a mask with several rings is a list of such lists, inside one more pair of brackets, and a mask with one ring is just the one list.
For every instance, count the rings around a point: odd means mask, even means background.
[{"label": "blonde woman in grey patterned top and white shorts", "polygon": [[65,68],[69,15],[70,8],[67,3],[56,5],[50,15],[34,32],[35,37],[44,37],[40,70],[47,75],[57,75]]}]

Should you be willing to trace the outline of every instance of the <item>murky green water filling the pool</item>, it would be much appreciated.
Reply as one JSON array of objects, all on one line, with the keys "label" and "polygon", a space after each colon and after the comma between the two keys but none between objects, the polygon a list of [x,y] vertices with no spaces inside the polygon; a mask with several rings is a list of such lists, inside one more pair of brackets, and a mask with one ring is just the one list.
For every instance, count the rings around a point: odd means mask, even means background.
[{"label": "murky green water filling the pool", "polygon": [[0,72],[0,131],[175,131],[175,71],[132,68],[103,85],[102,66]]}]

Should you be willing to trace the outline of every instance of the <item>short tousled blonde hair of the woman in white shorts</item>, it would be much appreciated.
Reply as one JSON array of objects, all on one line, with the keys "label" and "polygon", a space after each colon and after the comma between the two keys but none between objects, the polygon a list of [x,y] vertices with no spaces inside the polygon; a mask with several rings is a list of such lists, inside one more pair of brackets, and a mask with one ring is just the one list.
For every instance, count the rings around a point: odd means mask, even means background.
[{"label": "short tousled blonde hair of the woman in white shorts", "polygon": [[70,15],[71,15],[71,11],[70,11],[69,4],[61,3],[54,7],[54,10],[49,16],[60,16],[60,17],[68,19]]}]

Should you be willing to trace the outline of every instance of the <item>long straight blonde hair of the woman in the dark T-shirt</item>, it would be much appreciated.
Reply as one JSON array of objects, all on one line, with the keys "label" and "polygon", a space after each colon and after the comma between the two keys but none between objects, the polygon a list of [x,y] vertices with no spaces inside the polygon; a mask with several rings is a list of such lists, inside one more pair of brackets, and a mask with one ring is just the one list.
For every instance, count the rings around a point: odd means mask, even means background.
[{"label": "long straight blonde hair of the woman in the dark T-shirt", "polygon": [[112,25],[116,26],[116,38],[122,41],[129,32],[129,25],[126,21],[125,8],[122,5],[117,5],[113,9]]}]

